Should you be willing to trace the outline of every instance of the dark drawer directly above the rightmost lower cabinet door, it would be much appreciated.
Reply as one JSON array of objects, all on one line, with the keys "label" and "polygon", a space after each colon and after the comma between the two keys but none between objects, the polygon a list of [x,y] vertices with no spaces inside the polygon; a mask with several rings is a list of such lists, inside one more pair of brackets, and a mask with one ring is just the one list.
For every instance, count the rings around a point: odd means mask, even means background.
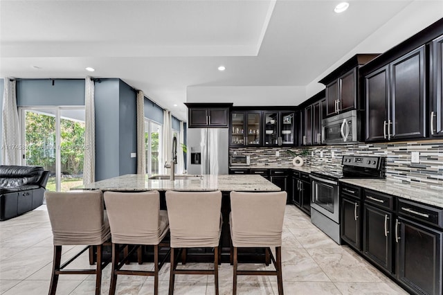
[{"label": "dark drawer directly above the rightmost lower cabinet door", "polygon": [[443,210],[425,204],[398,200],[398,214],[443,228]]}]

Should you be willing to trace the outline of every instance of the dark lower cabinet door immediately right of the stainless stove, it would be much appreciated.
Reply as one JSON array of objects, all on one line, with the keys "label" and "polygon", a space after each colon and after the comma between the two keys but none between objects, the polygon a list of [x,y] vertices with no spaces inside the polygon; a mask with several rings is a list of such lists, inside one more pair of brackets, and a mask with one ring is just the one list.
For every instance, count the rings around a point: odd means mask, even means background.
[{"label": "dark lower cabinet door immediately right of the stainless stove", "polygon": [[361,250],[361,202],[343,197],[341,199],[341,238],[350,246]]}]

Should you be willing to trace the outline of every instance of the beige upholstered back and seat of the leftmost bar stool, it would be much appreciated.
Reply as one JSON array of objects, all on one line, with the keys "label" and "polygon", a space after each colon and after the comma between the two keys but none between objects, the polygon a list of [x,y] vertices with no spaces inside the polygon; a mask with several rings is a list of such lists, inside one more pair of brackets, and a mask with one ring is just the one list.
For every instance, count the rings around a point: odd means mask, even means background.
[{"label": "beige upholstered back and seat of the leftmost bar stool", "polygon": [[111,233],[101,191],[46,191],[45,198],[55,246],[99,245],[109,239]]}]

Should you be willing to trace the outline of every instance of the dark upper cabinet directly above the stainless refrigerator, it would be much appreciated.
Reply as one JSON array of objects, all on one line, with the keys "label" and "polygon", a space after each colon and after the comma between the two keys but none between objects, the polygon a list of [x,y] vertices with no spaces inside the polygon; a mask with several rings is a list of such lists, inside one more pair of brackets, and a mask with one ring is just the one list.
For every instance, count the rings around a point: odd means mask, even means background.
[{"label": "dark upper cabinet directly above the stainless refrigerator", "polygon": [[229,109],[232,103],[186,103],[185,105],[188,106],[189,128],[228,127]]}]

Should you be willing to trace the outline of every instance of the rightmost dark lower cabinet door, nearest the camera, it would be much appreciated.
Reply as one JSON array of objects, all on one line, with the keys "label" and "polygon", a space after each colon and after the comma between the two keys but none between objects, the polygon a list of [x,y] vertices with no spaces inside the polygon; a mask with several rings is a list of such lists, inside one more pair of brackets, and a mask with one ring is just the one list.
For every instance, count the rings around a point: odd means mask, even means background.
[{"label": "rightmost dark lower cabinet door, nearest the camera", "polygon": [[442,294],[441,231],[398,217],[397,279],[414,294]]}]

